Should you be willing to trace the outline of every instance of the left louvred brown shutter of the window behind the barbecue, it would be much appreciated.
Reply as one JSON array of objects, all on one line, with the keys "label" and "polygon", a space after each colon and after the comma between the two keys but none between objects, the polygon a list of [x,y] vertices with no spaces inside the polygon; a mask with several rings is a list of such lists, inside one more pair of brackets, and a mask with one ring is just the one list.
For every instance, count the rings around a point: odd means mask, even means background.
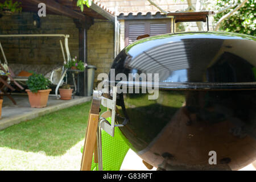
[{"label": "left louvred brown shutter of the window behind the barbecue", "polygon": [[145,34],[145,24],[129,24],[129,44],[136,41],[137,37]]}]

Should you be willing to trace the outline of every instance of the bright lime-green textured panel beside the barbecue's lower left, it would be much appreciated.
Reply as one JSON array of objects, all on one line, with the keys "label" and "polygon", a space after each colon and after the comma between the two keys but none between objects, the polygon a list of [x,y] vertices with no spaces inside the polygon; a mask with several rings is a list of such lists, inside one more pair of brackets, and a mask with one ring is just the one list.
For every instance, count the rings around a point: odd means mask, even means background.
[{"label": "bright lime-green textured panel beside the barbecue's lower left", "polygon": [[[111,123],[111,117],[106,118],[106,120]],[[130,147],[123,140],[122,133],[118,127],[115,127],[114,137],[102,130],[101,138],[103,171],[119,171]],[[94,163],[93,160],[91,171],[98,171],[98,164]]]}]

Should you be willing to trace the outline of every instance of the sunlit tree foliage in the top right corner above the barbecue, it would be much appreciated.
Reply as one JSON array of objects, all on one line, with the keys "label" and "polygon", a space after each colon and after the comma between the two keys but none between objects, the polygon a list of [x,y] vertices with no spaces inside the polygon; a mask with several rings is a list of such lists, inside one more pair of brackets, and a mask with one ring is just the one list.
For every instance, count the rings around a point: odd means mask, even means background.
[{"label": "sunlit tree foliage in the top right corner above the barbecue", "polygon": [[[238,3],[241,3],[241,0],[238,0]],[[230,6],[234,3],[234,0],[218,0],[216,9],[220,10],[227,6]],[[220,30],[228,32],[237,32],[241,34],[249,34],[256,36],[256,11],[255,11],[256,0],[249,0],[245,3],[241,9],[236,11],[232,16],[225,19],[221,23]],[[229,13],[230,10],[226,10],[222,13],[218,13],[214,16],[214,21],[218,20]]]}]

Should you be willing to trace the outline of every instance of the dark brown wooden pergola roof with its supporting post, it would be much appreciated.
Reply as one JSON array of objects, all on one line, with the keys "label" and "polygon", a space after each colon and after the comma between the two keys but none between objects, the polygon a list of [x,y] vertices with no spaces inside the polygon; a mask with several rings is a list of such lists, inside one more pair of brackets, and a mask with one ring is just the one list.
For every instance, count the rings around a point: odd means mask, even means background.
[{"label": "dark brown wooden pergola roof with its supporting post", "polygon": [[[109,11],[106,7],[101,7],[100,4],[92,2],[90,8],[84,6],[84,11],[81,12],[80,7],[77,7],[77,0],[15,0],[21,2],[22,12],[38,13],[39,3],[46,4],[46,14],[64,15],[72,18],[79,29],[79,59],[87,63],[87,31],[94,23],[94,19],[105,19],[110,22],[115,22],[114,12]],[[5,0],[0,0],[1,3]],[[83,79],[80,79],[83,88],[81,92],[86,96],[87,73],[84,72]]]}]

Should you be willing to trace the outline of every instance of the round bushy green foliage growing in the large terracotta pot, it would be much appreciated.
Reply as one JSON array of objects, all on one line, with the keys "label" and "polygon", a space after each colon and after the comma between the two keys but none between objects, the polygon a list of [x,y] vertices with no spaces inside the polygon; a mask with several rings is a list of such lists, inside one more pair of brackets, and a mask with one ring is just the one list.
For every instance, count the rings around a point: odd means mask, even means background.
[{"label": "round bushy green foliage growing in the large terracotta pot", "polygon": [[46,90],[48,86],[51,84],[46,77],[42,74],[33,73],[27,80],[28,89],[31,90],[32,93],[37,93],[38,90]]}]

